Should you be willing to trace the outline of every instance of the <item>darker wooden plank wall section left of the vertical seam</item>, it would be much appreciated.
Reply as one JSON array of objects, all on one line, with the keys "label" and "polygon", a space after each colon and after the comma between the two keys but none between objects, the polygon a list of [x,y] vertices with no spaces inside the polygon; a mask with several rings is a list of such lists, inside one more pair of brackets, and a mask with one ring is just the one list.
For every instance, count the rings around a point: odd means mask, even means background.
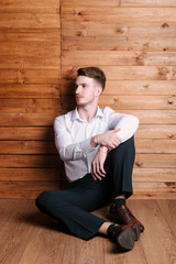
[{"label": "darker wooden plank wall section left of the vertical seam", "polygon": [[52,128],[59,91],[59,0],[1,1],[1,198],[34,198],[61,186]]}]

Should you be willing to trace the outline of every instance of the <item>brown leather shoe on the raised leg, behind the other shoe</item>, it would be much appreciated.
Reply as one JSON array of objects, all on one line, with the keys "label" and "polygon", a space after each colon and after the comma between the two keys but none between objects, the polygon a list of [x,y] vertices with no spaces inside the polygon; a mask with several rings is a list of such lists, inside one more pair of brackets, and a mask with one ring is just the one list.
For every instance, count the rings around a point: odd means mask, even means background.
[{"label": "brown leather shoe on the raised leg, behind the other shoe", "polygon": [[141,232],[144,231],[144,226],[132,215],[127,206],[121,206],[116,209],[114,204],[110,206],[109,216],[113,221],[120,224],[135,224],[140,226]]}]

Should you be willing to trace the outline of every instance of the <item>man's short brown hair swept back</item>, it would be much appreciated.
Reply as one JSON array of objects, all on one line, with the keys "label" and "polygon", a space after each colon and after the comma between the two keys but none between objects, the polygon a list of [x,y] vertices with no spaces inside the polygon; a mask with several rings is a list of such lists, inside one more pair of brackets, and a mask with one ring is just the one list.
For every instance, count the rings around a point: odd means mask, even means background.
[{"label": "man's short brown hair swept back", "polygon": [[106,87],[106,75],[105,73],[98,67],[86,67],[79,68],[77,72],[77,76],[86,76],[97,80],[97,82],[101,86],[102,90]]}]

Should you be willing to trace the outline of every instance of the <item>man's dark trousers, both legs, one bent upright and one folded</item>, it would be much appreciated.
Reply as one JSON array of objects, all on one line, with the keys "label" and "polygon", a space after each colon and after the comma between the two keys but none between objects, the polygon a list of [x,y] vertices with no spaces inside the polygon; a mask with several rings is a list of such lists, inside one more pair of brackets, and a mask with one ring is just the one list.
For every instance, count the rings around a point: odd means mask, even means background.
[{"label": "man's dark trousers, both legs, one bent upright and one folded", "polygon": [[65,223],[69,232],[80,239],[94,238],[106,222],[91,211],[111,202],[114,197],[132,195],[132,169],[135,148],[133,138],[109,152],[102,180],[95,180],[91,174],[75,180],[65,190],[48,190],[36,199],[37,208]]}]

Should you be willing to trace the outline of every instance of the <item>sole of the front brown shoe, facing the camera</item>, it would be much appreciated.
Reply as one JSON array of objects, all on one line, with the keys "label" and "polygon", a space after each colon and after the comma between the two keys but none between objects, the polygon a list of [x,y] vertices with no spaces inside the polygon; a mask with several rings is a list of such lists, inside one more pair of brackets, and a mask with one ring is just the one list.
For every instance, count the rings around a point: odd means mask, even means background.
[{"label": "sole of the front brown shoe, facing the camera", "polygon": [[123,251],[130,251],[134,248],[134,242],[140,239],[140,226],[135,223],[132,228],[124,230],[118,238],[117,244]]}]

